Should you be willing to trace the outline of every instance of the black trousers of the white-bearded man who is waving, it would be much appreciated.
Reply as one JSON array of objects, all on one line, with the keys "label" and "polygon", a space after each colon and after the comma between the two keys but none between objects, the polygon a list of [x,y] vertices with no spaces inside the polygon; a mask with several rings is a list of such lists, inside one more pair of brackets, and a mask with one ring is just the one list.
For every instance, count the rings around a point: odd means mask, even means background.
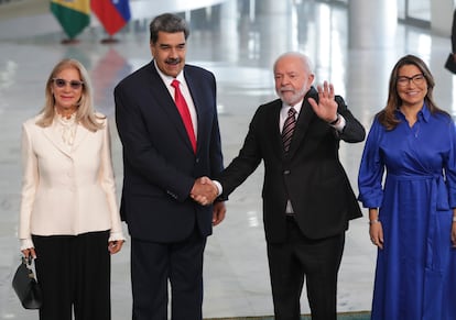
[{"label": "black trousers of the white-bearded man who is waving", "polygon": [[287,219],[285,243],[268,243],[268,260],[275,320],[300,320],[300,298],[306,282],[313,320],[336,320],[337,273],[345,232],[312,240],[293,218]]}]

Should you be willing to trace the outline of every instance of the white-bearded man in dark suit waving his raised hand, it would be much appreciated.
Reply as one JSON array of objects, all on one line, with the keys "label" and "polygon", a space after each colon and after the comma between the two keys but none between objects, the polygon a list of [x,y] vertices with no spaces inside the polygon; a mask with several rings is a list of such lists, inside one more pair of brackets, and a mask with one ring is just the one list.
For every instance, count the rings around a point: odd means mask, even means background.
[{"label": "white-bearded man in dark suit waving his raised hand", "polygon": [[[339,162],[340,140],[365,129],[332,85],[312,87],[310,60],[274,64],[280,99],[260,106],[239,155],[218,177],[228,196],[264,163],[263,222],[275,320],[298,320],[304,279],[314,320],[336,320],[337,273],[348,221],[361,217]],[[195,199],[209,200],[207,197]]]}]

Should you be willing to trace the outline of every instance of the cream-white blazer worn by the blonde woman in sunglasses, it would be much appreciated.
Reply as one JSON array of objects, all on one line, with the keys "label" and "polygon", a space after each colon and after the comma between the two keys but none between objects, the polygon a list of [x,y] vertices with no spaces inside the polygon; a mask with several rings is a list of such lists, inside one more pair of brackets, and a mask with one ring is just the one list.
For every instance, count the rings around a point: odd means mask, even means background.
[{"label": "cream-white blazer worn by the blonde woman in sunglasses", "polygon": [[108,121],[105,119],[104,129],[97,132],[78,124],[69,147],[56,121],[42,128],[35,124],[40,117],[22,125],[19,238],[32,244],[32,234],[77,235],[110,230],[110,241],[123,240]]}]

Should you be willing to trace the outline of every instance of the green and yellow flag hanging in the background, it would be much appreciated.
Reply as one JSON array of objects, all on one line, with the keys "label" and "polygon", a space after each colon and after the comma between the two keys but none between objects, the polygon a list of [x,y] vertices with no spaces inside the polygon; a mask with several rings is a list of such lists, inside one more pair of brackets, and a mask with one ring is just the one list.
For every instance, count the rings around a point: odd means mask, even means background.
[{"label": "green and yellow flag hanging in the background", "polygon": [[51,12],[74,38],[90,23],[90,0],[51,0]]}]

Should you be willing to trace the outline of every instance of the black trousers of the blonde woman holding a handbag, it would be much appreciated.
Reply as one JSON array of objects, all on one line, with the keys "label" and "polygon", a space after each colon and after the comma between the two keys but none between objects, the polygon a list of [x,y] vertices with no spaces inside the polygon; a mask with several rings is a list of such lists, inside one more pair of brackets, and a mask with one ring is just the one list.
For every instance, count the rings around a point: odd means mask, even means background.
[{"label": "black trousers of the blonde woman holding a handbag", "polygon": [[109,231],[33,235],[41,320],[110,320]]}]

